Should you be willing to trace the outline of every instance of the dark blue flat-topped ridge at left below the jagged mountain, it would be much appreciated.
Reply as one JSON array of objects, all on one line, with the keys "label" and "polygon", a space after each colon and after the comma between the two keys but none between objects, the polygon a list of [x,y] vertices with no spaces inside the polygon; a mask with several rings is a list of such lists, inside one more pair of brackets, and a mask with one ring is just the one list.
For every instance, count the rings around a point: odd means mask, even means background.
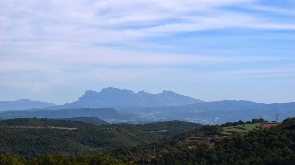
[{"label": "dark blue flat-topped ridge at left below the jagged mountain", "polygon": [[69,118],[69,117],[97,117],[100,119],[126,119],[126,116],[116,112],[113,108],[78,108],[60,110],[36,110],[36,111],[6,111],[1,112],[3,119],[13,119],[19,117],[37,118]]}]

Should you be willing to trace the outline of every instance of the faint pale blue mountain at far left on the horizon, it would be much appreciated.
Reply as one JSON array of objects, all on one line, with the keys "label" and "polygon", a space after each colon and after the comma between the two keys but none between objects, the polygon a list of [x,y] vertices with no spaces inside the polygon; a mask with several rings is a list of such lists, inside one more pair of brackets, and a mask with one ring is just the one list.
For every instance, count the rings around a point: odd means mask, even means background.
[{"label": "faint pale blue mountain at far left on the horizon", "polygon": [[41,101],[32,101],[29,99],[21,99],[17,101],[0,101],[0,111],[44,108],[49,106],[56,106],[56,104]]}]

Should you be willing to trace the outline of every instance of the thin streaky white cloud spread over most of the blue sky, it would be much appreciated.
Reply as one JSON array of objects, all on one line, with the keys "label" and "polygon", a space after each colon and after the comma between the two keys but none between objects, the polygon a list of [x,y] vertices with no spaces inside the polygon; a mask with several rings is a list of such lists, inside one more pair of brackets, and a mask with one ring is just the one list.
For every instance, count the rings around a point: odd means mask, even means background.
[{"label": "thin streaky white cloud spread over most of the blue sky", "polygon": [[[295,30],[293,22],[226,9],[240,7],[273,14],[294,13],[279,8],[253,7],[253,2],[2,0],[0,86],[30,93],[50,93],[55,86],[80,81],[132,84],[145,79],[165,81],[173,77],[185,79],[205,75],[208,79],[222,79],[230,76],[253,78],[293,74],[293,68],[276,66],[254,70],[229,68],[229,71],[218,71],[219,68],[215,66],[271,63],[276,60],[291,60],[292,63],[294,59],[291,57],[268,54],[242,56],[239,52],[235,56],[226,53],[171,53],[175,45],[157,45],[146,41],[214,29]],[[202,38],[199,41],[202,42]],[[139,48],[133,50],[125,46]],[[159,47],[169,51],[157,51]],[[206,71],[202,68],[214,69]]]}]

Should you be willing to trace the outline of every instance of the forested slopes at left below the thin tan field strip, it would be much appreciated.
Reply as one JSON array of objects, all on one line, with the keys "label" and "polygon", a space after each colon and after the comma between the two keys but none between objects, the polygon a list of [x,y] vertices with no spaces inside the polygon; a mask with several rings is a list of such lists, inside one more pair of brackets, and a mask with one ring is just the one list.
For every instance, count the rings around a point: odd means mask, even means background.
[{"label": "forested slopes at left below the thin tan field strip", "polygon": [[64,156],[97,155],[121,146],[159,140],[160,135],[128,128],[62,130],[0,128],[0,151],[23,156],[59,152]]}]

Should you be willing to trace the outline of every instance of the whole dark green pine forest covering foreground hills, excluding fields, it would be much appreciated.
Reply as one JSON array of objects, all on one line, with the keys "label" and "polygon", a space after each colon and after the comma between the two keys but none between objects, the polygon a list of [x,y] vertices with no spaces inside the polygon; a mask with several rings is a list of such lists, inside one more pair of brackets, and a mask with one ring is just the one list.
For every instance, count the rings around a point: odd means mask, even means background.
[{"label": "whole dark green pine forest covering foreground hills, excluding fields", "polygon": [[[221,135],[222,127],[219,125],[204,125],[182,133],[163,136],[152,130],[154,125],[157,130],[162,130],[173,125],[180,128],[184,123],[172,121],[171,123],[159,122],[146,125],[119,124],[112,125],[104,131],[93,129],[77,129],[64,132],[52,128],[7,128],[2,127],[0,163],[14,162],[12,164],[295,164],[295,118],[285,119],[280,125],[269,129],[253,129],[247,134],[231,136]],[[188,126],[191,123],[188,124]],[[131,128],[131,129],[130,129]],[[137,129],[134,129],[137,128]],[[140,128],[140,129],[138,129]],[[131,131],[132,130],[132,131]],[[156,129],[155,129],[156,130]],[[180,130],[180,129],[179,129]],[[96,132],[97,131],[97,132]],[[118,134],[124,137],[117,137]],[[145,134],[143,134],[145,132]],[[22,136],[19,136],[19,135]],[[30,134],[30,135],[28,135]],[[36,136],[30,139],[27,136]],[[38,137],[37,135],[42,135]],[[43,136],[44,135],[44,136]],[[87,135],[87,139],[85,136]],[[50,141],[46,144],[44,139],[54,139],[57,144],[52,148]],[[139,138],[141,136],[141,138]],[[67,139],[66,141],[58,141]],[[30,143],[42,146],[30,152],[26,151]],[[79,142],[84,147],[89,147],[91,152],[78,152],[77,150],[54,153],[53,148],[60,146],[74,147],[70,142]],[[8,142],[8,143],[7,143]],[[127,145],[122,145],[122,144]],[[6,144],[6,146],[5,146]],[[78,145],[78,143],[77,143]],[[79,146],[81,149],[83,146]],[[14,146],[14,147],[12,147]],[[22,147],[23,148],[22,148]],[[95,150],[95,147],[104,146],[112,149]],[[92,147],[92,148],[91,148]],[[48,152],[53,153],[48,155]],[[55,150],[56,151],[56,150]],[[78,152],[77,154],[69,154]],[[12,155],[12,154],[18,155]],[[44,155],[38,155],[41,153]],[[94,153],[94,154],[93,154]]]}]

